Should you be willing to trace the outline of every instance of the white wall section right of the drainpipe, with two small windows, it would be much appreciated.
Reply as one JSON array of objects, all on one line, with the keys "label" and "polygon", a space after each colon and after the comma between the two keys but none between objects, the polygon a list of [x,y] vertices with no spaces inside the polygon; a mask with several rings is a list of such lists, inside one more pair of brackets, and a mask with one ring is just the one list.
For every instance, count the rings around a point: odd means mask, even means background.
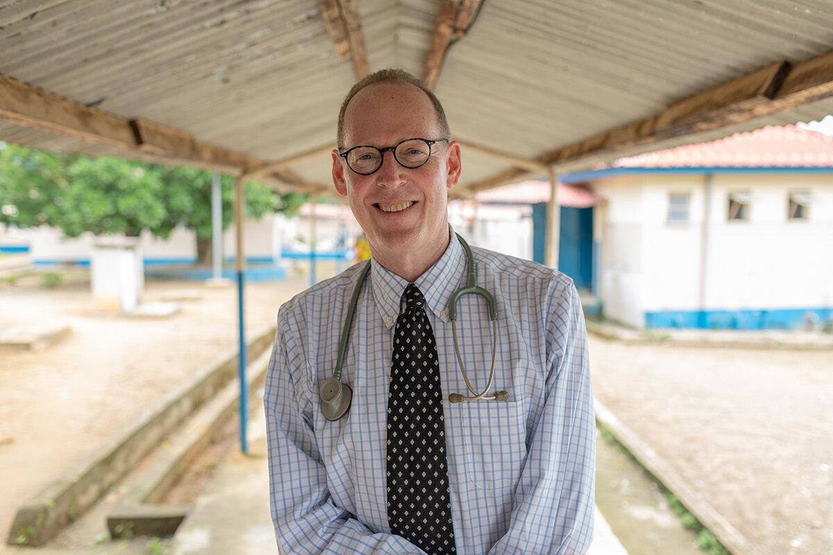
[{"label": "white wall section right of the drainpipe, with two small windows", "polygon": [[[807,188],[808,221],[788,221],[787,193]],[[727,221],[726,195],[752,192],[749,221]],[[706,305],[821,308],[833,305],[833,175],[718,175],[711,201]]]}]

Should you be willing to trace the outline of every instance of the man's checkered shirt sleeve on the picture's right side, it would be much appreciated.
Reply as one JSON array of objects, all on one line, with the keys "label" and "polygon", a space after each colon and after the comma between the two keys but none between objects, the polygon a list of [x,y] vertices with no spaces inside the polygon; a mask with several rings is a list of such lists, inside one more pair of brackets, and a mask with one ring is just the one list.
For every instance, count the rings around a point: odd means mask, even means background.
[{"label": "man's checkered shirt sleeve on the picture's right side", "polygon": [[593,538],[596,418],[586,326],[576,286],[570,281],[561,289],[547,317],[544,409],[512,499],[509,530],[490,555],[582,555]]}]

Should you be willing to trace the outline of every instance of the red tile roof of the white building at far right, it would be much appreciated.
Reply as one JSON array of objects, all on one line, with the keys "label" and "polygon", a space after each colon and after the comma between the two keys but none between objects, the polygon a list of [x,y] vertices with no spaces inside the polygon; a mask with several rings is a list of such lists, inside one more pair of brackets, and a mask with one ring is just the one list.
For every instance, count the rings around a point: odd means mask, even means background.
[{"label": "red tile roof of the white building at far right", "polygon": [[833,166],[833,137],[796,126],[766,126],[696,145],[619,158],[611,167]]}]

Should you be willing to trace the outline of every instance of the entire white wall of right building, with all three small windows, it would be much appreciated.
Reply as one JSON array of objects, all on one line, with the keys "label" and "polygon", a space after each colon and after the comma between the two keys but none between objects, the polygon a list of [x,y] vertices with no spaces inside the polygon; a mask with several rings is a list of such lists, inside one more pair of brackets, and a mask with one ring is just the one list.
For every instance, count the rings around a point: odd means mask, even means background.
[{"label": "entire white wall of right building, with all three small windows", "polygon": [[[601,299],[607,317],[644,325],[663,310],[762,310],[833,305],[833,175],[713,177],[701,291],[705,175],[596,181],[607,201]],[[809,189],[809,221],[788,221],[787,195]],[[730,191],[751,191],[748,221],[727,221]],[[667,221],[668,196],[691,194],[690,221]],[[701,298],[702,297],[702,298]]]}]

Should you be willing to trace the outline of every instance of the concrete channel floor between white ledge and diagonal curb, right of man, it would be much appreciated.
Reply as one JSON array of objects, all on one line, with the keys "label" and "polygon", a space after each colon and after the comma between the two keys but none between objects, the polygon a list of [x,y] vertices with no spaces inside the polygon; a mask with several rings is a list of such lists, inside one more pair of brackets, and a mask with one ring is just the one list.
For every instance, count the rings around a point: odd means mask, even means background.
[{"label": "concrete channel floor between white ledge and diagonal curb, right of man", "polygon": [[628,555],[706,555],[653,478],[598,430],[596,505]]}]

